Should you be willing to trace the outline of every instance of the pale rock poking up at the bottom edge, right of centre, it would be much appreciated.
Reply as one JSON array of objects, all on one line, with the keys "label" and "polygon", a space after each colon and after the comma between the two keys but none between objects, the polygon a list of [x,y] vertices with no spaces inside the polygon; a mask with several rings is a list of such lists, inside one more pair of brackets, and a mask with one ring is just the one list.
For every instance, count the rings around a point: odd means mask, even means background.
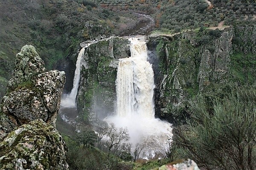
[{"label": "pale rock poking up at the bottom edge, right of centre", "polygon": [[200,170],[197,164],[188,159],[187,161],[183,161],[177,164],[166,164],[161,167],[154,168],[153,170]]}]

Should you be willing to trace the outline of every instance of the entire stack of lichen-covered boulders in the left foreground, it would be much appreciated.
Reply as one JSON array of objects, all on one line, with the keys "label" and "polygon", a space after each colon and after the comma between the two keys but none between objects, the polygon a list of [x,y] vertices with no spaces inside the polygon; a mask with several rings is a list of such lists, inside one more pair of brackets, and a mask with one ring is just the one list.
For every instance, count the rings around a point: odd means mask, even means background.
[{"label": "entire stack of lichen-covered boulders in the left foreground", "polygon": [[67,169],[66,146],[55,121],[64,71],[45,72],[32,45],[16,55],[0,112],[0,169]]}]

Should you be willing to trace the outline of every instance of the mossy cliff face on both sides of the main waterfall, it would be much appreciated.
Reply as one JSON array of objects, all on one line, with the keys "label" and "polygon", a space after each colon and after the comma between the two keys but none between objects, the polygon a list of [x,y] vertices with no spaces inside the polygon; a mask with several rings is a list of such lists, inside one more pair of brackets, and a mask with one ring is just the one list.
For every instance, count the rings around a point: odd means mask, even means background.
[{"label": "mossy cliff face on both sides of the main waterfall", "polygon": [[[244,74],[254,83],[255,71],[239,66],[245,60],[254,63],[255,28],[255,25],[244,28],[238,23],[223,30],[146,36],[148,61],[153,66],[156,86],[155,116],[180,123],[189,116],[189,99],[198,94],[221,97],[230,84],[241,83],[239,78],[246,77]],[[92,121],[114,114],[117,59],[129,57],[130,53],[128,40],[122,37],[93,43],[85,50],[77,95],[78,109],[84,119]]]}]

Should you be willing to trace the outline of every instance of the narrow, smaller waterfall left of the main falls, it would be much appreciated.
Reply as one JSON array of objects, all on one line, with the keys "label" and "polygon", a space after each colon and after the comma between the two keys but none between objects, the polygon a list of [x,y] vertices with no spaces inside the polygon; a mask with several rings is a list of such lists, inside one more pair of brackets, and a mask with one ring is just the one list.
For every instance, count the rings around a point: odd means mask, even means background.
[{"label": "narrow, smaller waterfall left of the main falls", "polygon": [[76,60],[76,70],[73,79],[73,88],[70,94],[64,96],[61,99],[61,106],[64,108],[76,108],[76,95],[78,92],[79,81],[80,81],[80,70],[83,65],[84,51],[85,48],[89,47],[91,43],[86,44],[79,52],[77,60]]}]

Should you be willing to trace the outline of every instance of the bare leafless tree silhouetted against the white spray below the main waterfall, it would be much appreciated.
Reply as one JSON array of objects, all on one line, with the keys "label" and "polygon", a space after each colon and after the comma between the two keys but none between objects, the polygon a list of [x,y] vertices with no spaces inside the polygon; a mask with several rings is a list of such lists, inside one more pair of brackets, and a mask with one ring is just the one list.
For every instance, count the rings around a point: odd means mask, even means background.
[{"label": "bare leafless tree silhouetted against the white spray below the main waterfall", "polygon": [[121,142],[128,141],[130,139],[127,128],[116,129],[115,125],[111,123],[106,135],[109,137],[108,150],[111,151],[113,147],[121,144]]}]

